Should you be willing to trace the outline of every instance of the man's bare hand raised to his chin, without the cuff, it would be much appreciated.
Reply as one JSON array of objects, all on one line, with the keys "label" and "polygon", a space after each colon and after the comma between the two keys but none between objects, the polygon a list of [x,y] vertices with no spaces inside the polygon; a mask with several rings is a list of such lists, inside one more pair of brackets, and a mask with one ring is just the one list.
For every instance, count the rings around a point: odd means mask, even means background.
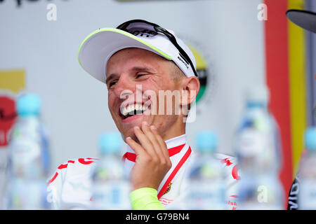
[{"label": "man's bare hand raised to his chin, without the cuff", "polygon": [[126,138],[126,143],[136,153],[136,163],[131,170],[131,188],[154,188],[159,184],[171,168],[171,161],[166,144],[159,135],[157,128],[142,123],[142,127],[134,127],[134,132],[140,144]]}]

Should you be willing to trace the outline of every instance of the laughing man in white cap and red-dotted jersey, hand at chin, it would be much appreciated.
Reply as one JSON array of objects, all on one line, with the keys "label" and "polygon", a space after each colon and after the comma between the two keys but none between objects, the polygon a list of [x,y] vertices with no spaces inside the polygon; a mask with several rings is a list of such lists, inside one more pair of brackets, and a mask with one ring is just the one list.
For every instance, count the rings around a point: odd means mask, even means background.
[{"label": "laughing man in white cap and red-dotted jersey, hand at chin", "polygon": [[[199,92],[190,49],[173,31],[131,20],[88,35],[78,59],[85,71],[107,85],[112,119],[128,145],[123,159],[132,208],[177,204],[185,194],[183,181],[192,157],[185,122]],[[94,162],[81,158],[58,167],[48,186],[58,208],[90,206],[86,189]]]}]

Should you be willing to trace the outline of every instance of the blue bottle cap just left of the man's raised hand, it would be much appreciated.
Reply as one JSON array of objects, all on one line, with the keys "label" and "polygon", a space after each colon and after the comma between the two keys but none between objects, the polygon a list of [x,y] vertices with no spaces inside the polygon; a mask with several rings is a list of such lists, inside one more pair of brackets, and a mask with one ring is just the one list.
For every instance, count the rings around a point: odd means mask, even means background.
[{"label": "blue bottle cap just left of the man's raised hand", "polygon": [[121,134],[118,132],[105,132],[100,134],[98,144],[102,155],[119,153],[122,146]]}]

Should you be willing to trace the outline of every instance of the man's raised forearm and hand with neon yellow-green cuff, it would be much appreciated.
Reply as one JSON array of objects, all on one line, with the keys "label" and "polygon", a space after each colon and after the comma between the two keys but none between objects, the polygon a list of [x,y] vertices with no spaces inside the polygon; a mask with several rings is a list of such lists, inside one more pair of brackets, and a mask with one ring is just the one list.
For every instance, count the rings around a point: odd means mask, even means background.
[{"label": "man's raised forearm and hand with neon yellow-green cuff", "polygon": [[142,123],[134,127],[140,144],[126,138],[126,143],[136,153],[136,163],[131,171],[130,195],[133,209],[164,209],[157,198],[157,189],[171,168],[171,160],[166,144],[157,128]]}]

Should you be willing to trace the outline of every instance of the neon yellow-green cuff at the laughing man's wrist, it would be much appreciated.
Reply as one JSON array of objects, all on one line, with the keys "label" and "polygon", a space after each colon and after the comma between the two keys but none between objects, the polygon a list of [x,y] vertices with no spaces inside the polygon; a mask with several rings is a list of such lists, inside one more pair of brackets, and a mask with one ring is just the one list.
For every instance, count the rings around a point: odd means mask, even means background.
[{"label": "neon yellow-green cuff at the laughing man's wrist", "polygon": [[129,195],[133,210],[166,210],[157,197],[154,188],[138,188]]}]

